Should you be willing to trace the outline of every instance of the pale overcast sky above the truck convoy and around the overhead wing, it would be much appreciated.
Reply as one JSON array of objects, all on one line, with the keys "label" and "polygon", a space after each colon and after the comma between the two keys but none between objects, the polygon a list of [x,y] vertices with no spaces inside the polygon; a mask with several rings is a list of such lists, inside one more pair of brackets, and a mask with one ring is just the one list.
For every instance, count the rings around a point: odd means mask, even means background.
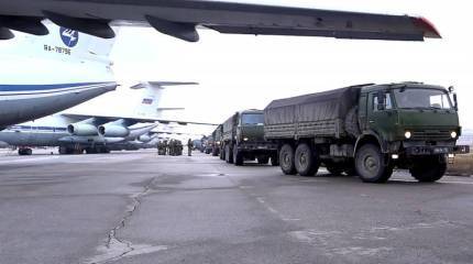
[{"label": "pale overcast sky above the truck convoy and around the overhead wing", "polygon": [[[186,43],[153,29],[124,28],[112,52],[117,79],[123,87],[141,80],[198,81],[199,87],[167,89],[163,103],[186,107],[177,116],[182,119],[208,122],[222,122],[241,109],[263,109],[277,98],[356,84],[416,80],[455,86],[462,125],[473,128],[473,36],[465,23],[471,11],[466,1],[254,2],[422,15],[444,38],[424,43],[345,41],[200,30],[199,43]],[[123,92],[120,89],[89,106],[123,109],[130,102]]]}]

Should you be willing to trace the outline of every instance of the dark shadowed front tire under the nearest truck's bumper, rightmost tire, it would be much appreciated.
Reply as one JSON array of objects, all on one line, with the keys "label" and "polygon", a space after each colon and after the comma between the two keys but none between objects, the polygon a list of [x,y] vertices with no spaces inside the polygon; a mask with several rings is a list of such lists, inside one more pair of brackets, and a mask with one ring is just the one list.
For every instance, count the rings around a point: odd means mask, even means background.
[{"label": "dark shadowed front tire under the nearest truck's bumper, rightmost tire", "polygon": [[439,156],[425,157],[418,161],[409,172],[420,183],[433,183],[441,179],[446,174],[447,161],[444,161],[444,157]]}]

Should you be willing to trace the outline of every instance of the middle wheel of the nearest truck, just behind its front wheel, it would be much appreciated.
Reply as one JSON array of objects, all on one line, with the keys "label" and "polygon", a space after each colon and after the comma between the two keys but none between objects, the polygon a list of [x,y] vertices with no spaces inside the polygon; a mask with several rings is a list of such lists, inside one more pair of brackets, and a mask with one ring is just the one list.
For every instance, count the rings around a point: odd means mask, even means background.
[{"label": "middle wheel of the nearest truck, just behind its front wheel", "polygon": [[300,176],[314,176],[319,170],[320,162],[312,148],[306,143],[297,146],[294,160],[296,170]]}]

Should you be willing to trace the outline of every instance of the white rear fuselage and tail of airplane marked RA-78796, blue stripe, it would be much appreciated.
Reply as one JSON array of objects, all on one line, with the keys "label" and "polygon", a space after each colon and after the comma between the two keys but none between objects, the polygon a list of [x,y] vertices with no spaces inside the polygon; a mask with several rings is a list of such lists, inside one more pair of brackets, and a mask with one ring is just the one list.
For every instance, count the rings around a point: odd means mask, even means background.
[{"label": "white rear fuselage and tail of airplane marked RA-78796, blue stripe", "polygon": [[23,34],[0,43],[0,130],[68,109],[117,87],[108,58],[114,40],[44,24],[48,36]]}]

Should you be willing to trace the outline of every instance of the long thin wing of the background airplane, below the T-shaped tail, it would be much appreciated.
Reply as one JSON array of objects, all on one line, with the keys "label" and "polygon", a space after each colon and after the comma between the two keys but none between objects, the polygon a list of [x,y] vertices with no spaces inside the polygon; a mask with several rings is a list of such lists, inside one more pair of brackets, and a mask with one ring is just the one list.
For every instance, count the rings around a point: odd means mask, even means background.
[{"label": "long thin wing of the background airplane, below the T-shaped tail", "polygon": [[155,119],[155,118],[141,118],[141,117],[88,116],[88,114],[75,114],[75,113],[62,113],[62,116],[69,118],[69,119],[74,119],[74,120],[87,120],[87,119],[94,118],[96,120],[100,120],[101,123],[108,123],[108,122],[122,120],[127,125],[133,125],[135,123],[154,123],[154,122],[158,122],[162,124],[177,123],[180,125],[187,125],[187,124],[219,125],[219,124],[207,123],[207,122],[167,120],[167,119],[158,119],[158,118]]}]

